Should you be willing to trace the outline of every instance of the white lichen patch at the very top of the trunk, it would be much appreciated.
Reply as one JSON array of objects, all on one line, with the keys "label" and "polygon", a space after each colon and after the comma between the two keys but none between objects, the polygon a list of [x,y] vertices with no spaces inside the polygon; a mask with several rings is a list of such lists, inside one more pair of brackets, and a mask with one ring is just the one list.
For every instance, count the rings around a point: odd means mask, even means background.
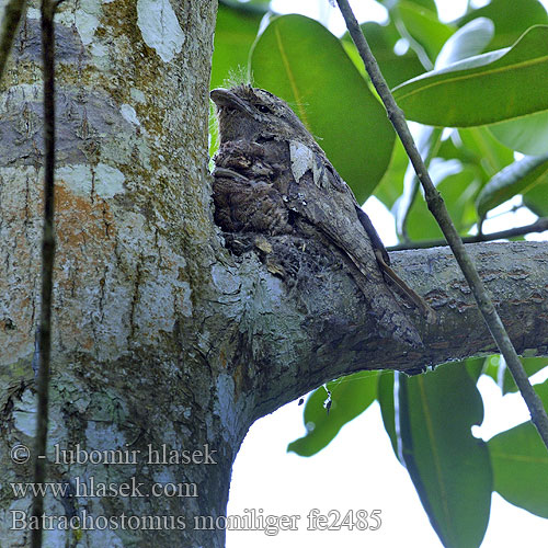
[{"label": "white lichen patch at the very top of the trunk", "polygon": [[181,52],[184,33],[169,0],[138,0],[137,26],[147,46],[156,50],[163,62]]}]

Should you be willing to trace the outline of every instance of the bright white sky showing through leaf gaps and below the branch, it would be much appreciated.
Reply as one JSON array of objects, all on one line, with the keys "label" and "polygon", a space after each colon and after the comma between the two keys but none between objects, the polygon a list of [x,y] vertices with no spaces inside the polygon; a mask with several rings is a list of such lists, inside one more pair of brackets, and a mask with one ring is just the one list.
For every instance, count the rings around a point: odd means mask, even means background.
[{"label": "bright white sky showing through leaf gaps and below the branch", "polygon": [[[381,22],[386,18],[384,8],[374,1],[351,3],[361,22]],[[475,5],[486,3],[475,2]],[[548,0],[543,3],[548,7]],[[463,14],[466,0],[437,1],[437,4],[442,19],[450,21]],[[319,19],[334,34],[344,32],[342,18],[327,0],[274,0],[273,7],[279,13],[298,10],[298,13]],[[512,203],[503,204],[499,212],[507,212],[511,207]],[[375,198],[367,201],[365,209],[384,242],[387,246],[395,243],[393,218],[388,210]],[[529,212],[520,210],[488,220],[484,229],[502,230],[533,222],[535,218]],[[527,239],[547,238],[545,232]],[[532,380],[540,383],[547,376],[545,369]],[[501,397],[490,378],[482,377],[478,386],[484,402],[484,421],[473,429],[476,436],[489,439],[528,420],[521,397]],[[311,458],[286,453],[287,444],[305,434],[302,409],[296,401],[292,402],[251,427],[235,463],[228,505],[229,515],[246,515],[246,509],[262,509],[264,515],[300,515],[298,530],[279,532],[277,536],[267,536],[261,530],[227,532],[227,548],[442,547],[407,470],[393,455],[376,402]],[[350,510],[370,512],[378,509],[383,525],[376,532],[307,530],[307,515],[312,509],[319,509],[322,514],[336,510],[343,515]],[[546,547],[547,533],[547,520],[512,506],[494,493],[482,548]]]}]

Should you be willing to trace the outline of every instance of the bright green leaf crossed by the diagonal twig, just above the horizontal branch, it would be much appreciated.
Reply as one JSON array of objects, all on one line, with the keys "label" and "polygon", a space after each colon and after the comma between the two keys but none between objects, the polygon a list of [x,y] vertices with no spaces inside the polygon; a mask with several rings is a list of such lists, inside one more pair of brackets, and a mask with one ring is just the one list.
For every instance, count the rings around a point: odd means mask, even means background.
[{"label": "bright green leaf crossed by the diagonal twig, just above the horizontal branch", "polygon": [[[432,170],[434,178],[435,169]],[[466,233],[477,221],[475,197],[480,187],[476,170],[463,167],[456,173],[449,174],[437,184],[437,190],[444,197],[453,222],[460,233]],[[408,236],[412,240],[430,240],[443,238],[442,230],[430,213],[422,195],[418,196],[408,214]]]}]

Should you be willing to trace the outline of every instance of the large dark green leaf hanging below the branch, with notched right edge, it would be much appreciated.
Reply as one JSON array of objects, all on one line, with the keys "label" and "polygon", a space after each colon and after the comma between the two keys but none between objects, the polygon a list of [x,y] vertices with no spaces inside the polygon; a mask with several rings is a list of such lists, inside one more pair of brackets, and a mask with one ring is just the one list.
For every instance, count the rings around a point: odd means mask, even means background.
[{"label": "large dark green leaf hanging below the branch, with notched right edge", "polygon": [[483,419],[475,381],[457,364],[400,375],[396,409],[406,466],[442,543],[478,547],[489,521],[492,472],[487,445],[470,433]]}]

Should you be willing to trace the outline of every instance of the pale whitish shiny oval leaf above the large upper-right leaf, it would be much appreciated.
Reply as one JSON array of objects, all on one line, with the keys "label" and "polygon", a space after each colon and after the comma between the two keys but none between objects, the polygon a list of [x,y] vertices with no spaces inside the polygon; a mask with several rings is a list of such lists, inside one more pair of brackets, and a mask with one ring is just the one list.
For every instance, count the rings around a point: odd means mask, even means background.
[{"label": "pale whitish shiny oval leaf above the large upper-right leaf", "polygon": [[479,18],[470,21],[453,34],[443,45],[436,58],[436,70],[467,57],[481,54],[491,42],[494,24],[490,19]]}]

